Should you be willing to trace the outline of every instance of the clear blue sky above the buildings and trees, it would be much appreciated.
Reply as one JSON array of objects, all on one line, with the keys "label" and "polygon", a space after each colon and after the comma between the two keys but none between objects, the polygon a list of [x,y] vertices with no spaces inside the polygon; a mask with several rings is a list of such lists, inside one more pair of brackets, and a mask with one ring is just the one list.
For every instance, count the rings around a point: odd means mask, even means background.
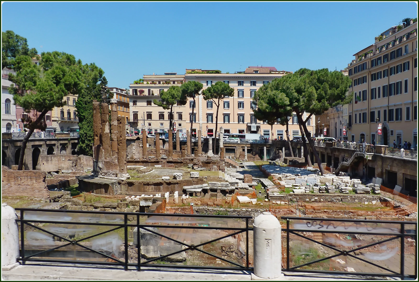
[{"label": "clear blue sky above the buildings and trees", "polygon": [[206,2],[2,4],[2,31],[30,47],[96,63],[109,86],[186,68],[234,73],[343,69],[353,54],[403,18],[414,2]]}]

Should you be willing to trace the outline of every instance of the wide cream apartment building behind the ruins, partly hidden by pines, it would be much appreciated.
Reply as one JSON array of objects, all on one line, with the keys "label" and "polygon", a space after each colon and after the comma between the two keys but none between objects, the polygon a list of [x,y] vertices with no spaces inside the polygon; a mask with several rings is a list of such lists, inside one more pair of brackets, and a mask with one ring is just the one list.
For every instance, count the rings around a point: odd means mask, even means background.
[{"label": "wide cream apartment building behind the ruins, partly hidden by pines", "polygon": [[[204,86],[203,89],[206,89],[213,83],[222,81],[228,83],[234,89],[234,95],[224,99],[220,105],[218,130],[222,127],[222,133],[259,133],[266,138],[286,138],[285,126],[275,124],[271,132],[271,126],[263,121],[256,120],[253,115],[253,109],[256,108],[256,105],[252,98],[259,87],[289,72],[278,71],[274,67],[248,67],[245,72],[235,74],[217,72],[219,71],[186,69],[185,75],[177,75],[176,73],[145,75],[143,84],[131,84],[129,96],[130,123],[134,127],[134,132],[138,134],[141,131],[141,125],[145,125],[147,132],[168,131],[170,110],[163,110],[163,108],[153,103],[154,99],[159,99],[158,94],[162,89],[167,90],[173,84],[178,85],[191,80],[201,82]],[[201,130],[203,136],[215,136],[217,134],[215,133],[216,105],[211,101],[204,100],[202,95],[198,95],[195,100],[195,105],[190,98],[186,105],[173,107],[176,129],[186,135],[186,130],[190,129],[190,122],[193,118],[193,133]],[[192,107],[194,107],[193,117]],[[315,116],[312,116],[308,122],[309,131],[312,135],[315,133],[314,120]],[[300,134],[297,118],[293,116],[290,118],[290,138]]]}]

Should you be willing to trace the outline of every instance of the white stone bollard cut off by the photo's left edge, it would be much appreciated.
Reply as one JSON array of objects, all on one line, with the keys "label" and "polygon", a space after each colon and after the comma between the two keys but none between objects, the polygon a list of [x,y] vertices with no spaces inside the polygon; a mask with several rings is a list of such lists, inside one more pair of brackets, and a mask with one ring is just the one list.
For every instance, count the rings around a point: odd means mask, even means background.
[{"label": "white stone bollard cut off by the photo's left edge", "polygon": [[1,267],[10,270],[19,265],[19,233],[16,211],[6,203],[1,205]]}]

